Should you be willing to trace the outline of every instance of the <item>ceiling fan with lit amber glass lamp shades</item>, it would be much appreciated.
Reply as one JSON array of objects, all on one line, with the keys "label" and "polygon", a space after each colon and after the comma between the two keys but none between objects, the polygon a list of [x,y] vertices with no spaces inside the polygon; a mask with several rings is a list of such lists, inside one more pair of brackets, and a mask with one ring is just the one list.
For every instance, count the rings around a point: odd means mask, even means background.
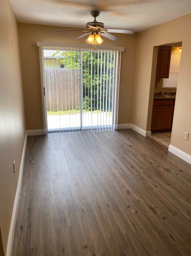
[{"label": "ceiling fan with lit amber glass lamp shades", "polygon": [[86,39],[87,43],[94,44],[96,47],[96,44],[103,43],[103,39],[100,37],[100,35],[107,37],[111,40],[117,40],[119,37],[110,34],[109,32],[113,33],[125,33],[125,34],[133,34],[133,30],[128,29],[104,29],[104,24],[102,22],[97,22],[96,17],[99,16],[99,11],[91,11],[91,16],[94,17],[93,22],[87,22],[86,23],[86,30],[55,30],[55,31],[83,31],[86,32],[75,39],[82,38],[86,35],[89,35],[89,37]]}]

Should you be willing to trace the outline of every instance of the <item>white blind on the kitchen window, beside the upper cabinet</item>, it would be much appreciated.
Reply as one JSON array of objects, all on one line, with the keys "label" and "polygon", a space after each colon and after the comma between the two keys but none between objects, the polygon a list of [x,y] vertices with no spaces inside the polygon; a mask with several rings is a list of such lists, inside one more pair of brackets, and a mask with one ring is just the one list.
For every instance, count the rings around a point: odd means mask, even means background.
[{"label": "white blind on the kitchen window, beside the upper cabinet", "polygon": [[177,87],[181,53],[171,53],[169,78],[163,78],[162,88]]}]

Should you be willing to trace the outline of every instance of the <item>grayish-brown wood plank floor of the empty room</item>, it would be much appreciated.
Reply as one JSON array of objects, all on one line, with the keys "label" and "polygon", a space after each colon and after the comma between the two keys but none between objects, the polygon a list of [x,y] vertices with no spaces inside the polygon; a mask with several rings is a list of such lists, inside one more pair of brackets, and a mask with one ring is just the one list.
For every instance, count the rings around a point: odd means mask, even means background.
[{"label": "grayish-brown wood plank floor of the empty room", "polygon": [[30,136],[12,255],[191,255],[190,184],[131,129]]}]

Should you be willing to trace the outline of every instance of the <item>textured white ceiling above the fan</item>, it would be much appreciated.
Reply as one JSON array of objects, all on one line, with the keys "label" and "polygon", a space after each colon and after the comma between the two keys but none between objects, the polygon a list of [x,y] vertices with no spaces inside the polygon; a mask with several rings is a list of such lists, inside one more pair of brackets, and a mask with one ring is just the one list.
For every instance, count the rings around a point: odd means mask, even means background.
[{"label": "textured white ceiling above the fan", "polygon": [[9,0],[18,22],[85,28],[93,21],[90,11],[98,10],[97,21],[105,28],[135,32],[191,13],[191,0]]}]

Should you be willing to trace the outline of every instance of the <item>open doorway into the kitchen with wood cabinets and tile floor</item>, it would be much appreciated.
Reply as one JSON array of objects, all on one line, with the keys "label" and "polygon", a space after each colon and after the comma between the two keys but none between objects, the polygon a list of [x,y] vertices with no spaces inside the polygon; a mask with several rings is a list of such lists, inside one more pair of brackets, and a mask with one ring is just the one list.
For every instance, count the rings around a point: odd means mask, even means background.
[{"label": "open doorway into the kitchen with wood cabinets and tile floor", "polygon": [[167,148],[171,141],[181,51],[182,42],[158,47],[150,138]]}]

